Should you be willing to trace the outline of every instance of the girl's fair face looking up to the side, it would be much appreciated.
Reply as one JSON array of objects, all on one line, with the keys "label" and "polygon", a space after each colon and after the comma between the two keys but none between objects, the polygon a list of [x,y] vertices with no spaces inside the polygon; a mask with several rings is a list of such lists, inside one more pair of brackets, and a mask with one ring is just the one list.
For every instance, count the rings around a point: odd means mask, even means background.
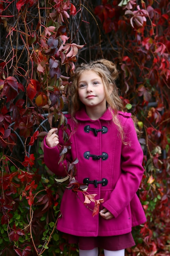
[{"label": "girl's fair face looking up to the side", "polygon": [[78,79],[79,99],[86,108],[101,107],[106,109],[106,99],[102,78],[92,70],[85,70]]}]

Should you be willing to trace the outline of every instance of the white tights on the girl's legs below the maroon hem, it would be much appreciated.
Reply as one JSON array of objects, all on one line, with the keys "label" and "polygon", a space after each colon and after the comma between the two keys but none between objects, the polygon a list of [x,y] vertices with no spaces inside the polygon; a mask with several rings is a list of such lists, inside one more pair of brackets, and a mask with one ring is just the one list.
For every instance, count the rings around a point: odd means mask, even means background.
[{"label": "white tights on the girl's legs below the maroon hem", "polygon": [[[119,251],[108,251],[104,249],[104,256],[124,256],[125,249]],[[98,248],[92,250],[81,250],[79,249],[79,256],[98,256]]]}]

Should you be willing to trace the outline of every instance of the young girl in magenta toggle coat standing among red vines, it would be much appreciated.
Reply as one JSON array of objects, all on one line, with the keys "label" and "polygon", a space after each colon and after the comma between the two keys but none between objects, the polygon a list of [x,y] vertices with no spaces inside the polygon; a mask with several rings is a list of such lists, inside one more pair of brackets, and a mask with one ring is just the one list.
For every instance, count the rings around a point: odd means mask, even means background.
[{"label": "young girl in magenta toggle coat standing among red vines", "polygon": [[[82,63],[72,83],[71,150],[60,162],[62,136],[57,128],[44,139],[44,161],[58,176],[66,176],[67,162],[78,158],[75,179],[88,185],[95,199],[104,198],[99,214],[92,216],[94,204],[86,207],[82,193],[66,189],[57,229],[69,234],[70,243],[79,243],[80,256],[124,256],[135,245],[131,230],[146,221],[137,197],[144,168],[143,151],[131,114],[123,111],[115,80],[113,62],[100,59]],[[60,129],[59,129],[60,130]]]}]

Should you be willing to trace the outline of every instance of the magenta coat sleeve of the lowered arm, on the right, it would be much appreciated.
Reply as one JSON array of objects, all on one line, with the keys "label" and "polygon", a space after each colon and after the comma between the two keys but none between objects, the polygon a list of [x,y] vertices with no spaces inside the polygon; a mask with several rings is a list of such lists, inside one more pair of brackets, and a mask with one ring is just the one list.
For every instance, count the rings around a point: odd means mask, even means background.
[{"label": "magenta coat sleeve of the lowered arm, on the right", "polygon": [[133,120],[124,124],[125,139],[121,148],[121,174],[110,198],[103,206],[116,218],[135,196],[144,173],[143,150],[139,144]]}]

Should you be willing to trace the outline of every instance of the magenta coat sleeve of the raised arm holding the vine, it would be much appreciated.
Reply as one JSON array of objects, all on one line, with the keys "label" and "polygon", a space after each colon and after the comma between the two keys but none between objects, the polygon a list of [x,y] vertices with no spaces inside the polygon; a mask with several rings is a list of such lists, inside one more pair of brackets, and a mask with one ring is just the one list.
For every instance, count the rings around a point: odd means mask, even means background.
[{"label": "magenta coat sleeve of the raised arm holding the vine", "polygon": [[[61,145],[61,136],[59,137],[60,145]],[[55,173],[57,176],[65,177],[67,175],[67,163],[72,162],[71,152],[68,152],[66,155],[66,159],[64,161],[60,161],[60,148],[61,146],[55,146],[53,148],[49,148],[46,145],[46,137],[44,138],[44,162],[46,166]]]}]

